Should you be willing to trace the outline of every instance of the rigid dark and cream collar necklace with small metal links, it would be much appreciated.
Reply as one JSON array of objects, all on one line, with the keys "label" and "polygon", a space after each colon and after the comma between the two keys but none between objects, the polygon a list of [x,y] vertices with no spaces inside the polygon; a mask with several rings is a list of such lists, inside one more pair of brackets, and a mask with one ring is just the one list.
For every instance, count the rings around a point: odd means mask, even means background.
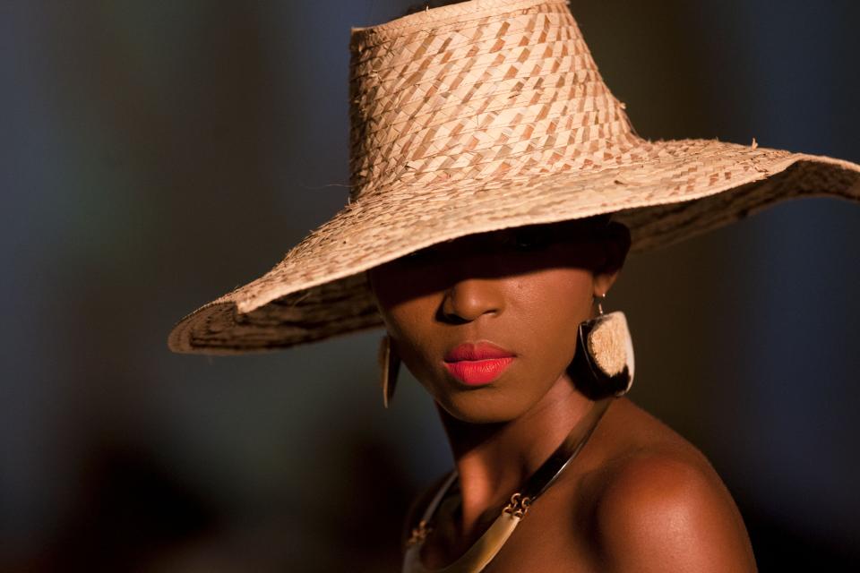
[{"label": "rigid dark and cream collar necklace with small metal links", "polygon": [[501,551],[508,537],[529,511],[529,507],[580,453],[613,399],[614,397],[601,398],[594,403],[589,412],[573,427],[562,445],[555,449],[555,452],[538,467],[535,473],[529,476],[520,490],[511,496],[511,500],[502,509],[502,514],[495,518],[493,525],[469,547],[467,552],[447,567],[427,569],[421,563],[421,548],[427,535],[432,531],[429,524],[436,509],[457,480],[457,470],[453,470],[427,506],[418,526],[412,530],[403,560],[403,573],[478,573],[483,570],[496,553]]}]

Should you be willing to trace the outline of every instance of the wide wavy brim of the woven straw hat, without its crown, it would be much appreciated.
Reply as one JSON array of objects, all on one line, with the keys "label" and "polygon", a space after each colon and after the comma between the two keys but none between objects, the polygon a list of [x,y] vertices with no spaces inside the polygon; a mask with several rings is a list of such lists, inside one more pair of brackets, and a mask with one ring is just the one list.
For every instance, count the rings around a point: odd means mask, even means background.
[{"label": "wide wavy brim of the woven straw hat, without its crown", "polygon": [[622,147],[626,159],[588,173],[400,184],[353,201],[262,277],[178,321],[168,346],[234,355],[381,327],[365,271],[464,235],[614,213],[639,252],[790,198],[860,200],[849,161],[712,140]]}]

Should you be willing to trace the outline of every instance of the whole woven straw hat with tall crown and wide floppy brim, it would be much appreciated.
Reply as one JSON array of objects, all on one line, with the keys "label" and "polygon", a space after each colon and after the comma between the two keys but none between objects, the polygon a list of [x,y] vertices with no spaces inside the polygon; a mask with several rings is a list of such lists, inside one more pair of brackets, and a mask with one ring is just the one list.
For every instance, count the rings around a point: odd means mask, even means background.
[{"label": "whole woven straw hat with tall crown and wide floppy brim", "polygon": [[716,140],[648,141],[563,0],[473,0],[355,29],[347,206],[273,269],[185,316],[176,352],[238,354],[382,325],[365,271],[449,239],[615,213],[632,251],[806,195],[860,166]]}]

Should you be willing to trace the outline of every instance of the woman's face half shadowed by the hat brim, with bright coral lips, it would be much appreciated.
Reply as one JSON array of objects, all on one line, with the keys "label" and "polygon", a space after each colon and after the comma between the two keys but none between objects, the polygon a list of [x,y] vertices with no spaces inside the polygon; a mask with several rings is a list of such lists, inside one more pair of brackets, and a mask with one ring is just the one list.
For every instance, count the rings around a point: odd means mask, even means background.
[{"label": "woman's face half shadowed by the hat brim, with bright coral lips", "polygon": [[503,422],[534,407],[565,369],[594,295],[615,280],[625,227],[520,227],[435,245],[369,272],[392,344],[449,414]]}]

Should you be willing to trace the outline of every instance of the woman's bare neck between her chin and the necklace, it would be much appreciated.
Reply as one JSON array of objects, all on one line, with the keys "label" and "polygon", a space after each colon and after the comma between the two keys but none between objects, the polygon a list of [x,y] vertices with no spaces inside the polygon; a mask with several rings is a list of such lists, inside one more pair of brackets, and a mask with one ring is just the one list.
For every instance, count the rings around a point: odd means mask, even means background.
[{"label": "woman's bare neck between her chin and the necklace", "polygon": [[465,423],[439,408],[460,481],[460,534],[475,535],[497,517],[593,402],[563,375],[520,417],[504,423]]}]

